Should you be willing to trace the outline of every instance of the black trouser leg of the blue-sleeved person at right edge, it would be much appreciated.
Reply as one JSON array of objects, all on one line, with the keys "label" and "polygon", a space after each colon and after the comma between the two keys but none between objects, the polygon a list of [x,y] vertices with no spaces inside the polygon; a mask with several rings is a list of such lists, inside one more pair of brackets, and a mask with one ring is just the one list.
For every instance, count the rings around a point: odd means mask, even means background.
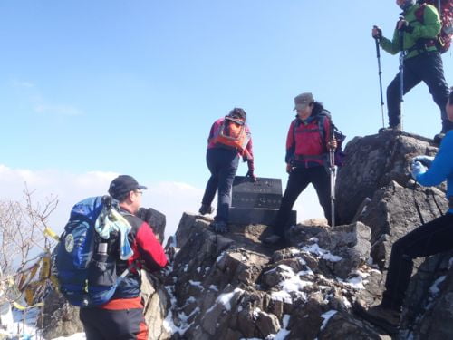
[{"label": "black trouser leg of the blue-sleeved person at right edge", "polygon": [[402,306],[412,274],[413,259],[453,249],[453,214],[433,219],[400,238],[391,248],[382,305]]}]

